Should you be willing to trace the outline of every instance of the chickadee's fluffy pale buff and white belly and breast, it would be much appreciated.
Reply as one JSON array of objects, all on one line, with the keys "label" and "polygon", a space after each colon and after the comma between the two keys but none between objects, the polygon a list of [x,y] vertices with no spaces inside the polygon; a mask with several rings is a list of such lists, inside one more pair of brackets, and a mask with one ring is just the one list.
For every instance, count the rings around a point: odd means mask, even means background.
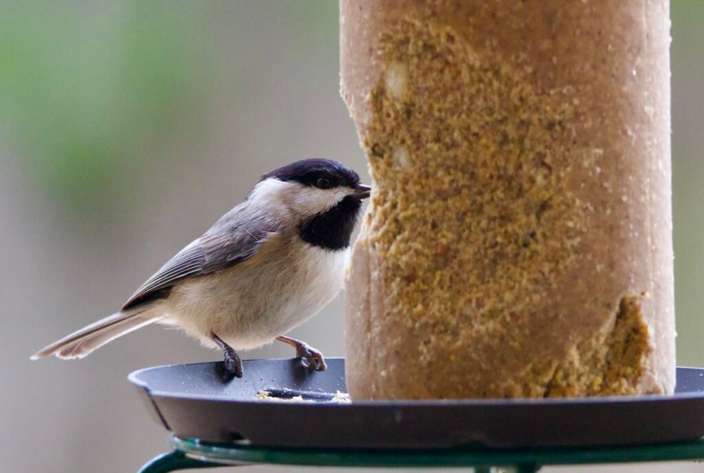
[{"label": "chickadee's fluffy pale buff and white belly and breast", "polygon": [[325,251],[304,243],[287,251],[306,254],[253,258],[175,286],[165,307],[168,322],[210,347],[215,347],[211,333],[235,349],[256,348],[286,334],[337,296],[349,256],[349,249]]}]

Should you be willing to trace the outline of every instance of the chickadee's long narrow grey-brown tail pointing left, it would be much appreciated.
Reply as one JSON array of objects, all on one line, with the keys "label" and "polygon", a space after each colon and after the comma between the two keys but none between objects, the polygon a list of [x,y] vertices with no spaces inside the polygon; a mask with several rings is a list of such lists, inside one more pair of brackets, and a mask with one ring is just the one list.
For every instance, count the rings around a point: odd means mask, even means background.
[{"label": "chickadee's long narrow grey-brown tail pointing left", "polygon": [[108,315],[104,319],[83,327],[77,332],[65,336],[59,341],[32,355],[32,360],[38,360],[49,355],[56,355],[64,360],[83,358],[96,351],[109,341],[129,334],[130,332],[156,322],[162,317],[161,313],[154,314],[149,308],[128,310],[125,312]]}]

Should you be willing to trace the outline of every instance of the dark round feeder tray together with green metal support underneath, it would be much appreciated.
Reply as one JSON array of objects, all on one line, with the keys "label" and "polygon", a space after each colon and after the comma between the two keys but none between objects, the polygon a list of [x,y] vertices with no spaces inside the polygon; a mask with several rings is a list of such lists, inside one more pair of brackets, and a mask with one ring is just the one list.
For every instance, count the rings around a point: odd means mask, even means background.
[{"label": "dark round feeder tray together with green metal support underneath", "polygon": [[[354,401],[344,359],[315,372],[301,360],[222,362],[130,374],[171,453],[142,472],[242,465],[477,467],[704,459],[704,369],[677,368],[674,396]],[[260,391],[278,399],[261,400]],[[286,402],[300,396],[303,402]],[[299,400],[301,401],[301,400]]]}]

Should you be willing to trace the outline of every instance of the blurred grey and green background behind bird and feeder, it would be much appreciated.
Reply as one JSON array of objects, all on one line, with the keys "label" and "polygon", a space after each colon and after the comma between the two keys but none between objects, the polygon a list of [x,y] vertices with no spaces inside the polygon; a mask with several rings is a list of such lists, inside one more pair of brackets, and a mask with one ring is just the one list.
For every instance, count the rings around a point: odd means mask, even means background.
[{"label": "blurred grey and green background behind bird and feeder", "polygon": [[[127,374],[220,354],[147,327],[80,362],[29,356],[112,313],[264,172],[319,156],[368,179],[339,98],[337,1],[1,7],[0,469],[134,472],[167,449],[167,435]],[[704,1],[672,2],[678,362],[697,366],[704,365],[703,22]],[[343,355],[342,325],[338,300],[292,336]],[[291,355],[277,344],[246,358]]]}]

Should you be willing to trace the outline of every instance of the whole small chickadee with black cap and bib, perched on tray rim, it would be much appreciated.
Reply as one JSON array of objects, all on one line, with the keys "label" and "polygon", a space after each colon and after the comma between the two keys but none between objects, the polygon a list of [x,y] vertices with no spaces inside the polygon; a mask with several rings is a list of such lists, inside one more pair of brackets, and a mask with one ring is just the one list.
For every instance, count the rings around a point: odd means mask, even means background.
[{"label": "whole small chickadee with black cap and bib, perched on tray rim", "polygon": [[371,188],[341,163],[307,159],[264,175],[226,213],[137,289],[115,314],[51,343],[32,360],[83,358],[152,322],[180,327],[225,353],[278,340],[308,367],[325,370],[320,351],[284,336],[342,288],[350,237]]}]

